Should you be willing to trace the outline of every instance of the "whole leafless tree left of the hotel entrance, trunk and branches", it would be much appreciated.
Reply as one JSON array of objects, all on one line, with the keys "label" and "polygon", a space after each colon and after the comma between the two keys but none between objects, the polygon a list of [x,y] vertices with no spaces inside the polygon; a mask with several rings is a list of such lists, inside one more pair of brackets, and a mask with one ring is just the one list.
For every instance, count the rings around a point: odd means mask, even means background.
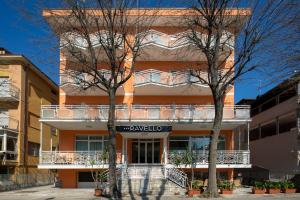
[{"label": "whole leafless tree left of the hotel entrance, trunk and branches", "polygon": [[118,198],[116,92],[134,72],[155,12],[133,9],[137,6],[135,0],[64,2],[66,10],[45,10],[51,15],[61,51],[68,61],[61,74],[81,90],[98,89],[108,95],[109,187],[111,197]]}]

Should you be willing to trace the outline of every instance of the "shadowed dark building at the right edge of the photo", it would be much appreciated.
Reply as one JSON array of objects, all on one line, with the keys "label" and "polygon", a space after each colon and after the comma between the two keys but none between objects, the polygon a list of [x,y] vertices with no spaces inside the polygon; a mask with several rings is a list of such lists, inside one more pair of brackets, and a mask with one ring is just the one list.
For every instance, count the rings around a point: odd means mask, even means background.
[{"label": "shadowed dark building at the right edge of the photo", "polygon": [[298,73],[256,99],[238,103],[251,105],[251,163],[267,170],[270,178],[299,173],[299,95]]}]

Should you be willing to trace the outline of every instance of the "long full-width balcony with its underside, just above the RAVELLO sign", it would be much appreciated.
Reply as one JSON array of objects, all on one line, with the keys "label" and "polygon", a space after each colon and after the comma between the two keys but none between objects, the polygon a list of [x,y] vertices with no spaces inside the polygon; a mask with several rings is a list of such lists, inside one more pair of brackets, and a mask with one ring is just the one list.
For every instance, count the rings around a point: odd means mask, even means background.
[{"label": "long full-width balcony with its underside, just above the RAVELLO sign", "polygon": [[[61,130],[106,130],[108,110],[107,105],[44,105],[41,121]],[[117,105],[115,113],[117,124],[172,124],[175,130],[210,129],[214,114],[213,105]],[[224,107],[223,128],[249,121],[249,106]]]}]

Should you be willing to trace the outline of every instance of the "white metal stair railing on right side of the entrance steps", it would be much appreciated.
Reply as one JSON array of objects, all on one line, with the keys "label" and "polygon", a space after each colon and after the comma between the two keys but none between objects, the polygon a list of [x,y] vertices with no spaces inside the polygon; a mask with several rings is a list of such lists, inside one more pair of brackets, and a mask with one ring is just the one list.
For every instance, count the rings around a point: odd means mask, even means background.
[{"label": "white metal stair railing on right side of the entrance steps", "polygon": [[186,188],[187,180],[188,180],[186,173],[184,173],[183,171],[175,167],[172,168],[165,167],[165,178],[176,183],[182,188]]}]

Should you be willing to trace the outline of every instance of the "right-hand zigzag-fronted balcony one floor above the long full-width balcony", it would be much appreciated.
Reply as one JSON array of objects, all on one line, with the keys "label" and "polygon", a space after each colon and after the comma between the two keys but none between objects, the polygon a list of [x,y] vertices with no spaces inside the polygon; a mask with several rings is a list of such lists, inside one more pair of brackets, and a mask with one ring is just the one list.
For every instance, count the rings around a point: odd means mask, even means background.
[{"label": "right-hand zigzag-fronted balcony one floor above the long full-width balcony", "polygon": [[[207,73],[202,74],[207,79]],[[148,69],[134,74],[136,95],[209,95],[207,85],[197,82],[189,72],[165,72]]]}]

